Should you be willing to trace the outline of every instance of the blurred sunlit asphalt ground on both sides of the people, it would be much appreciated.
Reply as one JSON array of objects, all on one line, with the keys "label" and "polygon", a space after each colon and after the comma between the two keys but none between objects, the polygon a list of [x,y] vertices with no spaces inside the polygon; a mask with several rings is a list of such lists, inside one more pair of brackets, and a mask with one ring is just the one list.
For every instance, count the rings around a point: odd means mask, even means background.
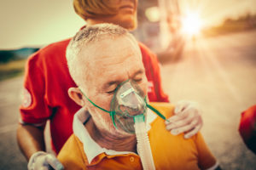
[{"label": "blurred sunlit asphalt ground on both sides of the people", "polygon": [[[241,111],[256,104],[256,31],[189,42],[183,57],[162,65],[163,86],[173,103],[201,106],[203,133],[224,169],[256,169],[256,156],[242,143]],[[26,169],[15,141],[22,77],[0,82],[0,169]]]}]

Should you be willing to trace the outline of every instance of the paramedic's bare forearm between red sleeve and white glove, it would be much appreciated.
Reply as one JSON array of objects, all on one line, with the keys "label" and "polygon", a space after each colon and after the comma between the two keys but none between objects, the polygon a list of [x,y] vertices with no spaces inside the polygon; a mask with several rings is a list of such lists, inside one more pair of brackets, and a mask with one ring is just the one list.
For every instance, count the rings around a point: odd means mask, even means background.
[{"label": "paramedic's bare forearm between red sleeve and white glove", "polygon": [[28,161],[32,154],[39,150],[45,150],[44,127],[21,125],[17,129],[17,141],[20,150]]}]

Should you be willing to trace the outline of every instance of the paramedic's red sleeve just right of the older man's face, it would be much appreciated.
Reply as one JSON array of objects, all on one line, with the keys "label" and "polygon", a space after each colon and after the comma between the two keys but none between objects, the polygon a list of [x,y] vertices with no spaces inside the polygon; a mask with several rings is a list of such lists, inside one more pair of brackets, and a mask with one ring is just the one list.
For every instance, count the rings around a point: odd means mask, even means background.
[{"label": "paramedic's red sleeve just right of the older man's face", "polygon": [[150,102],[169,102],[161,85],[160,65],[156,55],[139,42],[143,54],[143,65],[148,78],[148,99]]}]

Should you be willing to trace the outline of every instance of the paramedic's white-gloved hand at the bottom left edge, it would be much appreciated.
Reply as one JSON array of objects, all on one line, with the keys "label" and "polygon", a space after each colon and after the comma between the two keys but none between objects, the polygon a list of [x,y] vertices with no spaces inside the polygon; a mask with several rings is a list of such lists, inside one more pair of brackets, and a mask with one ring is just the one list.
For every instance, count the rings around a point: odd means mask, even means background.
[{"label": "paramedic's white-gloved hand at the bottom left edge", "polygon": [[44,151],[34,153],[28,161],[27,168],[28,170],[64,169],[61,162],[54,155]]}]

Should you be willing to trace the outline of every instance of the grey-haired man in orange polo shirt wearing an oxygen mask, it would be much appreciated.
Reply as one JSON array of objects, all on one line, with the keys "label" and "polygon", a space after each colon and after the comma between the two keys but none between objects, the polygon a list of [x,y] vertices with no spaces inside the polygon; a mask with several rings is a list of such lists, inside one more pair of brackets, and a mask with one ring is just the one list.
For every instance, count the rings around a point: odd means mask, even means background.
[{"label": "grey-haired man in orange polo shirt wearing an oxygen mask", "polygon": [[[172,116],[172,105],[148,106],[142,54],[125,29],[87,26],[69,43],[67,64],[77,84],[68,94],[82,109],[74,116],[74,134],[58,155],[65,169],[147,169],[141,162],[151,159],[137,151],[139,140],[134,134],[135,117],[142,115],[154,160],[149,169],[218,168],[200,133],[191,139],[168,133],[163,119]],[[151,154],[151,150],[145,151]]]}]

